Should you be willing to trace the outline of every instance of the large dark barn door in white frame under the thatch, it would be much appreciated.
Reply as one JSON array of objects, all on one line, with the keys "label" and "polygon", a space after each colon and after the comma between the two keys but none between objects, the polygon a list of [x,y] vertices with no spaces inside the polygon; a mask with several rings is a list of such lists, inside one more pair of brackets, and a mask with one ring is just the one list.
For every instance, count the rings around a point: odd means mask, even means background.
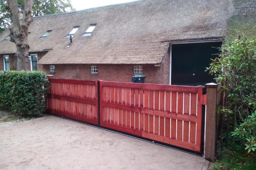
[{"label": "large dark barn door in white frame under the thatch", "polygon": [[206,67],[218,57],[222,42],[172,45],[172,85],[205,85],[215,82]]}]

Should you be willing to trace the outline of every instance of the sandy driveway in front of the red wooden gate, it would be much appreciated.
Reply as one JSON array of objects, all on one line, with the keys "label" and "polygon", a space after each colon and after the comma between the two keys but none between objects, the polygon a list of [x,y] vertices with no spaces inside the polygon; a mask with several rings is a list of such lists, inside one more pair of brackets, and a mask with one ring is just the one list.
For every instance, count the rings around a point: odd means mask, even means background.
[{"label": "sandy driveway in front of the red wooden gate", "polygon": [[200,156],[54,116],[0,126],[1,170],[205,170],[207,166]]}]

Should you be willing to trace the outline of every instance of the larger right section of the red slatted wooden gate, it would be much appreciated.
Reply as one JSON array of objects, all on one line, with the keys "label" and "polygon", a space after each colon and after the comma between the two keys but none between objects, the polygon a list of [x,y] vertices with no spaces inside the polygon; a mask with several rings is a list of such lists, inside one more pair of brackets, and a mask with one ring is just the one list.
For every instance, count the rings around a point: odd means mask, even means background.
[{"label": "larger right section of the red slatted wooden gate", "polygon": [[203,88],[100,81],[101,126],[200,152]]}]

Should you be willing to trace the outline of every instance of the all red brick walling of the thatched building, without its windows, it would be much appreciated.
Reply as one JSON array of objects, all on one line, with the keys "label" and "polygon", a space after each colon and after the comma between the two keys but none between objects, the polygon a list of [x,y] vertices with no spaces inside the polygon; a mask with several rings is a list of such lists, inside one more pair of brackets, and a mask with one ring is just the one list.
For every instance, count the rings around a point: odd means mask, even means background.
[{"label": "all red brick walling of the thatched building, without its windows", "polygon": [[[47,52],[32,52],[30,54],[38,54],[38,61]],[[169,84],[169,65],[170,65],[170,51],[166,51],[166,55],[163,58],[163,62],[160,66],[154,66],[154,64],[145,64],[143,66],[143,74],[146,76],[145,83],[152,84]],[[3,70],[3,55],[0,55],[0,70]],[[17,68],[17,58],[14,54],[9,54],[10,57],[10,68]],[[55,73],[49,72],[49,65],[38,65],[38,70],[46,71],[47,74],[53,75],[55,78],[66,78],[66,79],[88,79],[95,80],[101,79],[105,81],[116,81],[116,82],[131,82],[134,65],[97,65],[99,74],[90,74],[91,65],[55,65]],[[28,60],[28,70],[30,70],[30,61]]]}]

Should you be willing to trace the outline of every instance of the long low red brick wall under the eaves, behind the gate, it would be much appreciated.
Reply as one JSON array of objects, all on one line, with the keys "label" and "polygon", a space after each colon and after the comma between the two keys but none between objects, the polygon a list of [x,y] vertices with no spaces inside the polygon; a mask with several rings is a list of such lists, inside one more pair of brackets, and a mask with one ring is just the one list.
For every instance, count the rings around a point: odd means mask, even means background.
[{"label": "long low red brick wall under the eaves, behind the gate", "polygon": [[[134,65],[96,65],[98,74],[90,73],[91,65],[55,65],[55,72],[49,72],[49,65],[43,65],[43,71],[53,75],[54,78],[65,79],[101,79],[105,81],[131,82]],[[143,74],[146,76],[145,83],[152,84],[169,84],[169,76],[164,75],[163,65],[155,67],[151,65],[142,65]],[[165,71],[165,70],[164,70]],[[167,79],[167,78],[168,79]]]}]

